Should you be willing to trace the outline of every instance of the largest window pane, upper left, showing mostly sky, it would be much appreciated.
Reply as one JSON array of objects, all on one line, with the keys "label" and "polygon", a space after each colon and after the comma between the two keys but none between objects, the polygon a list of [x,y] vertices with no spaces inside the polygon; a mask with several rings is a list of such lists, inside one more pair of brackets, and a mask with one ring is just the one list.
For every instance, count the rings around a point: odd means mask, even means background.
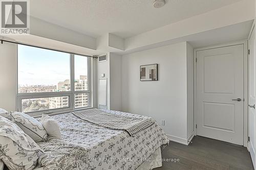
[{"label": "largest window pane, upper left, showing mostly sky", "polygon": [[18,45],[18,92],[70,91],[70,54]]}]

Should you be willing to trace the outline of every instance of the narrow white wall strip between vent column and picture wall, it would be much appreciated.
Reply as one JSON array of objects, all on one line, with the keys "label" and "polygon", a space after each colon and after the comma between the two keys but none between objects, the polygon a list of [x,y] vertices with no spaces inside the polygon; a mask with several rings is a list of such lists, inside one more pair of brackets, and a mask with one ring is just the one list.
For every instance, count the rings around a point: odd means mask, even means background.
[{"label": "narrow white wall strip between vent column and picture wall", "polygon": [[110,53],[110,109],[122,110],[122,56]]}]

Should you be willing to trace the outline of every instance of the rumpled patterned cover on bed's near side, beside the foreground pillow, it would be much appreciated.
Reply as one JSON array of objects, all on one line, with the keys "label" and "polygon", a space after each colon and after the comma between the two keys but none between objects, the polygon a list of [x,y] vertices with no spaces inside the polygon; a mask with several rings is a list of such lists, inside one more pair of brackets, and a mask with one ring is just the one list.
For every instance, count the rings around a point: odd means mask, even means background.
[{"label": "rumpled patterned cover on bed's near side, beside the foreground pillow", "polygon": [[80,145],[52,139],[48,142],[38,142],[45,154],[38,158],[38,163],[44,170],[80,170],[88,169],[88,149]]}]

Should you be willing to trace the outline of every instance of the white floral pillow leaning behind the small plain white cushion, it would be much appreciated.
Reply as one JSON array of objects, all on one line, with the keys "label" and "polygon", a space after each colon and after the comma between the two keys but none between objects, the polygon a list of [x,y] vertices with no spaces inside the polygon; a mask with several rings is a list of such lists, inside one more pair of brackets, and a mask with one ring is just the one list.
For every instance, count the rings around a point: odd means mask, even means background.
[{"label": "white floral pillow leaning behind the small plain white cushion", "polygon": [[12,122],[17,124],[35,142],[47,140],[45,128],[34,117],[22,112],[11,112],[11,118]]}]

